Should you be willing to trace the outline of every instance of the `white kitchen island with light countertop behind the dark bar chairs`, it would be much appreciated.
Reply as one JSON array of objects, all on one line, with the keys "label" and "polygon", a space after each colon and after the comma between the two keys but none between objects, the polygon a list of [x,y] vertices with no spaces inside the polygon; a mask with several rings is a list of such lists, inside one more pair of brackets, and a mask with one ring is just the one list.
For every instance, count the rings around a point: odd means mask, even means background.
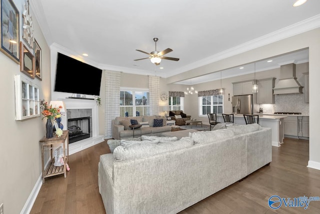
[{"label": "white kitchen island with light countertop behind the dark bar chairs", "polygon": [[[272,146],[280,146],[284,138],[283,118],[285,115],[259,115],[259,125],[262,127],[271,128],[272,131]],[[217,122],[224,123],[222,115],[217,115]],[[245,124],[242,114],[234,115],[235,124]]]}]

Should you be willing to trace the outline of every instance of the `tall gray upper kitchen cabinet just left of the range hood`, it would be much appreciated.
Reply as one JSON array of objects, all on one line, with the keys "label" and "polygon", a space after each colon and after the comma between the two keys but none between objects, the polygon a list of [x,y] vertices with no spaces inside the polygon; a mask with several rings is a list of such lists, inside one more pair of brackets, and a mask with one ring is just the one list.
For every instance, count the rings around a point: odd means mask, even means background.
[{"label": "tall gray upper kitchen cabinet just left of the range hood", "polygon": [[256,93],[256,104],[274,104],[273,95],[275,78],[257,80],[258,92]]}]

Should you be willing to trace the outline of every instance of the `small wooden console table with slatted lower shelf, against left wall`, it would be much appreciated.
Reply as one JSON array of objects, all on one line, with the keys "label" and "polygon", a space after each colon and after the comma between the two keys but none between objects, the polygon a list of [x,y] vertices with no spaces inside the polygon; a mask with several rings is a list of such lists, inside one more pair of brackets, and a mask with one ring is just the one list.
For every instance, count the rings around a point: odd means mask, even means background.
[{"label": "small wooden console table with slatted lower shelf, against left wall", "polygon": [[[45,136],[39,140],[41,145],[41,163],[42,163],[42,183],[44,183],[45,177],[50,177],[58,174],[64,174],[66,177],[66,163],[68,162],[69,156],[69,140],[68,140],[69,131],[63,130],[63,134],[61,137],[57,137],[54,135],[52,138],[46,138]],[[56,144],[63,144],[62,146],[62,154],[63,154],[63,161],[64,164],[62,166],[54,166],[54,157],[52,156],[53,153],[53,145]],[[65,143],[66,143],[66,154],[65,154]],[[50,162],[48,163],[47,167],[44,168],[44,147],[48,147],[50,149]]]}]

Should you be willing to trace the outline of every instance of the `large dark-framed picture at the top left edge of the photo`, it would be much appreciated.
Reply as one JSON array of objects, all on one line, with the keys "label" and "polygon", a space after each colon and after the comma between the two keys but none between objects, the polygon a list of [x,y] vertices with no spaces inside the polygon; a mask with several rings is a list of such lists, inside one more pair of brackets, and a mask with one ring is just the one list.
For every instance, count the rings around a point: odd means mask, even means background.
[{"label": "large dark-framed picture at the top left edge of the photo", "polygon": [[19,64],[19,11],[12,0],[0,1],[0,51]]}]

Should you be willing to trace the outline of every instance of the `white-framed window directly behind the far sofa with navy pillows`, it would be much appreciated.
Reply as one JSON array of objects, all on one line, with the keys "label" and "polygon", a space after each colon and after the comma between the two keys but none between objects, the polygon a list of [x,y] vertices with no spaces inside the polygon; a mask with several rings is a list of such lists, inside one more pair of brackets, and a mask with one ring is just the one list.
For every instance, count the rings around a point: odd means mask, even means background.
[{"label": "white-framed window directly behind the far sofa with navy pillows", "polygon": [[148,89],[120,89],[120,116],[149,115]]}]

